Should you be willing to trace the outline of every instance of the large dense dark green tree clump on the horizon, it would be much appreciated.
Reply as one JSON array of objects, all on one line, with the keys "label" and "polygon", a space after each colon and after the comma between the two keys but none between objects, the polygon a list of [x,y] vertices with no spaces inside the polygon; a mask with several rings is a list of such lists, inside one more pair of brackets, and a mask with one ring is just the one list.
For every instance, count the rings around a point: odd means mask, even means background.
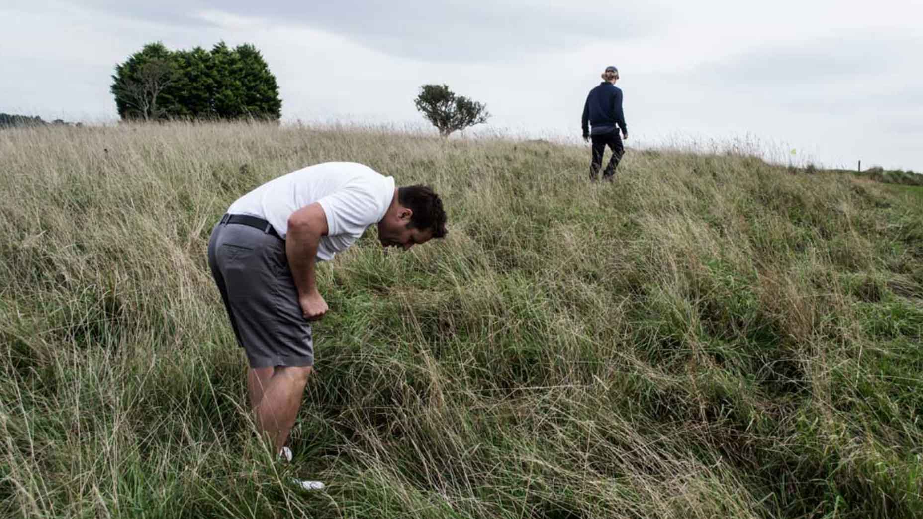
[{"label": "large dense dark green tree clump on the horizon", "polygon": [[115,66],[110,88],[123,120],[217,120],[282,115],[279,86],[253,45],[171,51],[149,43]]}]

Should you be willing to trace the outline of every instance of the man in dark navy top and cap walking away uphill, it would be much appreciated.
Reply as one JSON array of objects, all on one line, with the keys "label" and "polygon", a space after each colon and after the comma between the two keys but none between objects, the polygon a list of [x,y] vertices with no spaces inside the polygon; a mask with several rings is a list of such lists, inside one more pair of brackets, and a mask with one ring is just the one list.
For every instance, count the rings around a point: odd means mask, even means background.
[{"label": "man in dark navy top and cap walking away uphill", "polygon": [[[605,166],[603,179],[613,179],[618,161],[625,152],[622,139],[618,138],[619,128],[621,128],[623,138],[629,138],[629,127],[625,124],[625,114],[622,113],[622,91],[616,86],[618,69],[615,66],[606,66],[602,77],[603,82],[586,96],[581,120],[583,140],[593,139],[590,180],[596,180],[599,168],[603,164],[603,153],[606,146],[612,150],[612,157]],[[590,129],[591,127],[593,129]]]}]

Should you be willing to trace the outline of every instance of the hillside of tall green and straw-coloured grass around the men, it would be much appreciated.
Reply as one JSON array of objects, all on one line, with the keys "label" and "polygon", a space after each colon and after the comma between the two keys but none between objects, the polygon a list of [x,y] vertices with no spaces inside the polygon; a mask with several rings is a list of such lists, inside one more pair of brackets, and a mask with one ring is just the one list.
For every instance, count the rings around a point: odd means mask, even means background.
[{"label": "hillside of tall green and straw-coloured grass around the men", "polygon": [[[588,159],[374,130],[3,132],[0,516],[923,514],[920,188],[635,150],[591,185]],[[450,234],[385,255],[372,229],[323,266],[318,374],[276,465],[206,241],[248,189],[332,160],[432,185]]]}]

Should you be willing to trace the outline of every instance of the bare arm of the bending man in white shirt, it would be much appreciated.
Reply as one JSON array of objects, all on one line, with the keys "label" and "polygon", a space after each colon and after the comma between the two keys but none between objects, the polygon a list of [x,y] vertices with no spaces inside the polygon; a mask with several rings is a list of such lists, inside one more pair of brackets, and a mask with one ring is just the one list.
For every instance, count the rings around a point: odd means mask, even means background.
[{"label": "bare arm of the bending man in white shirt", "polygon": [[317,202],[294,211],[288,219],[285,256],[298,288],[298,302],[306,320],[318,320],[327,313],[327,301],[315,283],[315,263],[320,236],[327,235],[327,214]]}]

